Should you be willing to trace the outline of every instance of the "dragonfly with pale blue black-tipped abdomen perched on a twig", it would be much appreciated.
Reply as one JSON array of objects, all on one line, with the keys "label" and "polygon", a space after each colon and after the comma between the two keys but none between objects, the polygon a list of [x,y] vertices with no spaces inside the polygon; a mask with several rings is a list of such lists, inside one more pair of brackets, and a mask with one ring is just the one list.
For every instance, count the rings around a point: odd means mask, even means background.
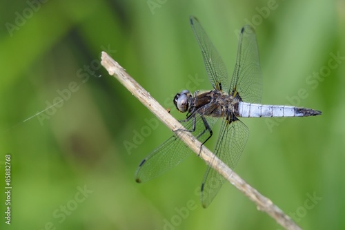
[{"label": "dragonfly with pale blue black-tipped abdomen perched on a twig", "polygon": [[[238,117],[308,117],[321,111],[295,106],[260,104],[262,70],[255,30],[244,26],[240,30],[237,59],[233,77],[228,73],[215,46],[206,35],[198,19],[190,17],[190,25],[199,44],[206,73],[213,90],[190,93],[182,90],[173,102],[178,111],[186,114],[180,120],[185,129],[178,129],[166,142],[141,161],[135,173],[137,182],[146,182],[181,163],[192,152],[177,136],[177,132],[191,132],[204,145],[213,137],[212,128],[221,119],[219,135],[213,152],[234,170],[248,140],[248,127]],[[225,178],[208,166],[201,184],[201,204],[204,208],[213,201]]]}]

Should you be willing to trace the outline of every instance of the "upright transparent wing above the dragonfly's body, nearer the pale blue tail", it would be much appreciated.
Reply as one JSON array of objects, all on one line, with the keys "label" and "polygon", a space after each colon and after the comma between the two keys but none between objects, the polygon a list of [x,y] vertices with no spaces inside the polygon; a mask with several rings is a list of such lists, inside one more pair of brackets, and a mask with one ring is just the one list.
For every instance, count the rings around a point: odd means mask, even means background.
[{"label": "upright transparent wing above the dragonfly's body, nearer the pale blue tail", "polygon": [[239,93],[244,102],[259,103],[262,97],[262,70],[255,30],[246,25],[239,35],[239,45],[229,94]]}]

